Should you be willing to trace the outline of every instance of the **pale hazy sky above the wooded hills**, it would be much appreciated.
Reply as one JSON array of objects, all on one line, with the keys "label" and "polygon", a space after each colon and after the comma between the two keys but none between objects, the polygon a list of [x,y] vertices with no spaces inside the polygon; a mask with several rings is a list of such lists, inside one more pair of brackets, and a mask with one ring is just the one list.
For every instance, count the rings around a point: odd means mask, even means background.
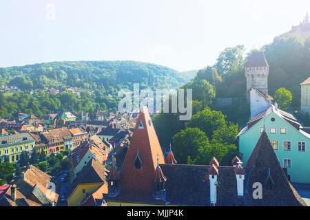
[{"label": "pale hazy sky above the wooded hills", "polygon": [[309,0],[1,0],[0,67],[130,60],[201,69],[225,47],[271,43],[307,11]]}]

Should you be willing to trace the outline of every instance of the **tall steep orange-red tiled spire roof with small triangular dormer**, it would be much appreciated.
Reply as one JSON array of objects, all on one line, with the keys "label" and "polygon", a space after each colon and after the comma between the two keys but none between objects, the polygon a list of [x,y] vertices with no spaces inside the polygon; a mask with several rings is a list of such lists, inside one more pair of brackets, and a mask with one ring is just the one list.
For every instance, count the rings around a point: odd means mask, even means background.
[{"label": "tall steep orange-red tiled spire roof with small triangular dormer", "polygon": [[[139,128],[142,122],[143,128]],[[134,169],[134,159],[137,152],[142,162],[142,169]],[[121,170],[121,192],[149,192],[152,194],[153,185],[152,178],[155,175],[157,166],[157,158],[159,164],[165,164],[165,157],[159,144],[153,122],[149,116],[147,107],[141,109],[130,147],[125,156],[124,164]]]}]

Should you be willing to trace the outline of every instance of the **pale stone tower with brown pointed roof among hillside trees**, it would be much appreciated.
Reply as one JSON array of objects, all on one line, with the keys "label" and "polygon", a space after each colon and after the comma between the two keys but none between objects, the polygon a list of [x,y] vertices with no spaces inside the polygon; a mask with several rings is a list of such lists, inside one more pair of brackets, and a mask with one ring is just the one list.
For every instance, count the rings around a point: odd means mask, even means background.
[{"label": "pale stone tower with brown pointed roof among hillside trees", "polygon": [[264,52],[252,52],[245,64],[245,77],[247,78],[247,98],[249,91],[254,88],[268,94],[269,65]]}]

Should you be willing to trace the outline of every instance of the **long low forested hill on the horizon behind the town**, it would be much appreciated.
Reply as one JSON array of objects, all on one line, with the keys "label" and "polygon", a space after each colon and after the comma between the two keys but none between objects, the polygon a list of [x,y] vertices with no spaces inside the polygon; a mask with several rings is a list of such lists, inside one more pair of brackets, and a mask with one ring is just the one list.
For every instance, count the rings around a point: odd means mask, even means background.
[{"label": "long low forested hill on the horizon behind the town", "polygon": [[21,90],[43,89],[47,86],[71,86],[84,89],[104,87],[177,88],[189,81],[174,69],[136,61],[64,61],[21,67],[0,68],[0,85]]}]

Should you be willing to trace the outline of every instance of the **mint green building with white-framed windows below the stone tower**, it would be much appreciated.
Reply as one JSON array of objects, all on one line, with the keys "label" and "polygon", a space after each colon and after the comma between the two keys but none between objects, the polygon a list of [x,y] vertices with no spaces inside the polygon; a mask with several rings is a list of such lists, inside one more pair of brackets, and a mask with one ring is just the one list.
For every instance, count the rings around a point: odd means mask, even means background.
[{"label": "mint green building with white-framed windows below the stone tower", "polygon": [[[293,115],[271,106],[254,115],[237,135],[242,162],[247,161],[264,130],[291,182],[310,184],[310,135]],[[307,132],[306,132],[307,131]]]}]

